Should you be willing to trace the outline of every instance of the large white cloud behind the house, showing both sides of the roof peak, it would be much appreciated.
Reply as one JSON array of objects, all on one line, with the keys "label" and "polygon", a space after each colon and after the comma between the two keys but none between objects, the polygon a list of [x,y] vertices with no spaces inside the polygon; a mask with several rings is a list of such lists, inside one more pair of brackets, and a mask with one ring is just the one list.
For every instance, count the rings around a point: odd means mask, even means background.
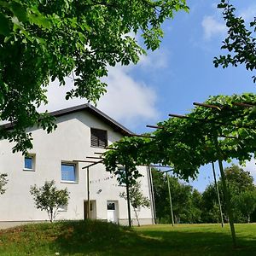
[{"label": "large white cloud behind the house, showing both sides of the roof peak", "polygon": [[[96,107],[128,128],[136,129],[143,122],[155,121],[159,113],[155,107],[157,101],[155,91],[143,81],[133,79],[129,74],[131,68],[121,66],[109,68],[108,78],[104,79],[108,84],[108,92],[102,96]],[[66,82],[65,86],[58,86],[58,81],[49,84],[49,104],[41,107],[41,111],[45,109],[53,111],[87,102],[85,99],[77,98],[66,101],[66,92],[73,88],[73,79],[67,78]]]}]

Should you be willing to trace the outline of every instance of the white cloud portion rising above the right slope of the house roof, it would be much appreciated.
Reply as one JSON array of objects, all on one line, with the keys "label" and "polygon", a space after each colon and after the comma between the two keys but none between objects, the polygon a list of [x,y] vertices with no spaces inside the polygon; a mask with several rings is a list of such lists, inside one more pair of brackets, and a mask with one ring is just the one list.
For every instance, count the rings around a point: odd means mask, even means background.
[{"label": "white cloud portion rising above the right slope of the house roof", "polygon": [[111,68],[106,82],[108,92],[98,102],[102,111],[131,128],[136,128],[143,121],[157,119],[156,93],[143,82],[132,79],[125,72],[125,67]]}]

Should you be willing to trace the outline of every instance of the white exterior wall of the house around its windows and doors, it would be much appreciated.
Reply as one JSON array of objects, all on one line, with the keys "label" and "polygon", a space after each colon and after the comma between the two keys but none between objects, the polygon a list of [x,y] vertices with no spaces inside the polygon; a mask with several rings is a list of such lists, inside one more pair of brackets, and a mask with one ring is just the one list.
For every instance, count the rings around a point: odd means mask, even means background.
[{"label": "white exterior wall of the house around its windows and doors", "polygon": [[[87,177],[86,169],[82,167],[89,164],[79,162],[77,165],[78,183],[65,183],[61,182],[61,162],[85,160],[86,156],[98,156],[94,153],[104,151],[102,148],[90,147],[90,128],[107,130],[108,145],[122,136],[86,111],[63,115],[57,118],[57,125],[57,129],[50,134],[42,129],[32,130],[33,149],[29,153],[35,154],[34,172],[23,170],[24,156],[20,153],[12,154],[14,144],[0,140],[0,173],[8,173],[9,179],[5,194],[0,195],[0,222],[47,220],[47,213],[34,206],[29,190],[34,184],[42,186],[45,180],[52,179],[58,188],[67,187],[70,192],[67,212],[59,212],[57,219],[84,218]],[[141,178],[143,193],[150,198],[147,168],[141,166],[139,170],[144,176]],[[99,193],[100,189],[102,191]],[[119,192],[124,190],[102,164],[90,167],[90,201],[96,201],[96,218],[107,220],[107,201],[118,201],[119,223],[126,224],[126,201],[119,197]],[[131,218],[135,218],[132,207]],[[139,218],[142,224],[152,224],[151,208],[142,208]]]}]

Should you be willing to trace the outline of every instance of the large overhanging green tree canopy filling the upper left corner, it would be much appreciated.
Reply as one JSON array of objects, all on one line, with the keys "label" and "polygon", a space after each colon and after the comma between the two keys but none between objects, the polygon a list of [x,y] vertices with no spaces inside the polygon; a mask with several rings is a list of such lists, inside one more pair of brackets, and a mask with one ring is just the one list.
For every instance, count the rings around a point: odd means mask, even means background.
[{"label": "large overhanging green tree canopy filling the upper left corner", "polygon": [[137,63],[146,52],[132,34],[157,49],[162,23],[180,9],[188,11],[185,0],[1,1],[0,120],[14,126],[0,130],[0,137],[25,153],[32,148],[26,127],[55,129],[54,119],[37,111],[47,102],[49,80],[63,85],[72,76],[66,98],[96,102],[106,91],[101,78],[108,66]]}]

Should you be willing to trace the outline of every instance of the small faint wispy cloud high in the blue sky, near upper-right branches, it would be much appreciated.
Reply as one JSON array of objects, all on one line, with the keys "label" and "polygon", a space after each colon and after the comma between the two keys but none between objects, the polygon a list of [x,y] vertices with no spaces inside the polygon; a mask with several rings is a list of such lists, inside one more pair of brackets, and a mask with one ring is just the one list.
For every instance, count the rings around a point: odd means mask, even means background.
[{"label": "small faint wispy cloud high in the blue sky, near upper-right branches", "polygon": [[210,40],[212,37],[223,35],[227,29],[224,23],[218,21],[214,16],[205,16],[201,22],[204,30],[204,38]]}]

